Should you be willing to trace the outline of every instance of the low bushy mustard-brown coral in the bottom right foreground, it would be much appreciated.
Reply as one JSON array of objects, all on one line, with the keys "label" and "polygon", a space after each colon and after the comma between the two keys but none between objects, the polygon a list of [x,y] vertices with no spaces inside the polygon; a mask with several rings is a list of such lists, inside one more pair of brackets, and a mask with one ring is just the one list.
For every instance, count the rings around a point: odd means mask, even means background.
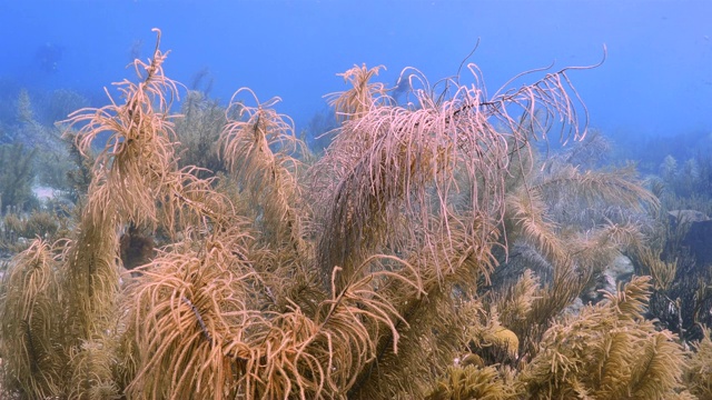
[{"label": "low bushy mustard-brown coral in the bottom right foreground", "polygon": [[553,326],[520,376],[532,399],[669,399],[682,380],[683,350],[643,319],[650,279]]}]

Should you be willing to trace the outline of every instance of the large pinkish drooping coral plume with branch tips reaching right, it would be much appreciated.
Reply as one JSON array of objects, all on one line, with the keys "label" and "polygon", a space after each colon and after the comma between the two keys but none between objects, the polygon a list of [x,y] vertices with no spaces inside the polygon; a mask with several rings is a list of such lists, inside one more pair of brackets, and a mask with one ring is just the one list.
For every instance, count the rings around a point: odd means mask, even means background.
[{"label": "large pinkish drooping coral plume with branch tips reaching right", "polygon": [[[405,230],[411,234],[406,241],[419,242],[434,257],[434,243],[452,246],[455,207],[468,216],[466,223],[502,222],[511,158],[526,152],[534,134],[513,117],[514,109],[570,112],[565,84],[555,81],[556,74],[547,76],[491,100],[478,87],[455,84],[452,94],[437,99],[421,90],[415,93],[418,107],[383,104],[346,121],[327,156],[313,168],[323,171],[328,166],[334,171],[317,179],[326,182],[320,268],[339,266],[349,277],[368,254],[402,240],[393,231],[402,221],[413,227]],[[452,201],[462,193],[469,199],[466,208]],[[490,236],[475,229],[471,233],[481,240]]]}]

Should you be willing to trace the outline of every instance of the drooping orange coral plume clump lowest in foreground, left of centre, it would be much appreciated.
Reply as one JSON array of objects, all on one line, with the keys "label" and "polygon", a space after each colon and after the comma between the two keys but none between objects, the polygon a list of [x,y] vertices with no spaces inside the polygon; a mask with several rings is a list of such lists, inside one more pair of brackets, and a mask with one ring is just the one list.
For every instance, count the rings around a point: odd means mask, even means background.
[{"label": "drooping orange coral plume clump lowest in foreground, left of centre", "polygon": [[[127,332],[135,336],[125,340],[135,343],[139,366],[129,393],[221,399],[239,392],[239,376],[220,349],[239,338],[233,327],[256,329],[266,322],[259,307],[247,303],[259,277],[239,256],[245,252],[239,234],[229,233],[230,241],[208,241],[199,252],[187,242],[188,249],[176,247],[180,251],[144,267],[131,287],[126,320]],[[229,242],[230,248],[224,246]]]}]

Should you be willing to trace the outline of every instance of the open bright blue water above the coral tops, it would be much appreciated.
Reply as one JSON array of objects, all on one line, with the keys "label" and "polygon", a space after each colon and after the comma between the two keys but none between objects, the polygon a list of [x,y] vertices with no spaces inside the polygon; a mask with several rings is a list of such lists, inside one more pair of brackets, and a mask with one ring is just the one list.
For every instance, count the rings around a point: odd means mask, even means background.
[{"label": "open bright blue water above the coral tops", "polygon": [[[199,71],[227,102],[251,88],[283,98],[297,127],[345,90],[336,76],[384,64],[393,83],[407,66],[432,82],[463,59],[494,92],[520,71],[555,62],[605,63],[571,78],[591,126],[611,136],[712,133],[712,1],[10,1],[0,0],[0,99],[18,88],[81,91],[134,78],[151,28],[162,30],[165,64],[190,86]],[[533,78],[530,78],[531,81]],[[526,81],[525,81],[526,82]],[[4,91],[4,92],[3,92]]]}]

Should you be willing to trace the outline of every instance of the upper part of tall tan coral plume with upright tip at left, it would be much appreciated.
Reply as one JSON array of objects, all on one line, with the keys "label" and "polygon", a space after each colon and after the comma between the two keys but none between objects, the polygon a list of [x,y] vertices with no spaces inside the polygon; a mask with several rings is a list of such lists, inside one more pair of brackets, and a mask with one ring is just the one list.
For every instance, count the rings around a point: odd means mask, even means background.
[{"label": "upper part of tall tan coral plume with upright tip at left", "polygon": [[[123,104],[111,96],[110,106],[81,109],[70,116],[70,126],[80,126],[77,147],[88,154],[91,143],[101,132],[110,132],[105,149],[97,156],[90,192],[96,192],[89,209],[99,216],[105,204],[136,226],[156,224],[156,194],[176,170],[170,106],[177,98],[177,86],[164,74],[167,53],[158,49],[149,62],[135,61],[139,83],[123,80],[116,83]],[[106,189],[103,189],[106,188]]]}]

